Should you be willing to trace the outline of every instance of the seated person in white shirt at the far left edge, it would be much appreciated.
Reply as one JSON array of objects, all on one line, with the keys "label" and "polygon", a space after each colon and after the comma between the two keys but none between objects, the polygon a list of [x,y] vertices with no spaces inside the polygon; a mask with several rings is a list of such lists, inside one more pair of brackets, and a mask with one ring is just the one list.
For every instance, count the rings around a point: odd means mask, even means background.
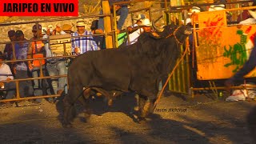
[{"label": "seated person in white shirt at the far left edge", "polygon": [[6,99],[10,99],[15,97],[16,85],[15,82],[1,82],[14,79],[10,67],[6,65],[6,63],[3,63],[3,60],[4,56],[2,52],[0,52],[0,88],[6,89]]}]

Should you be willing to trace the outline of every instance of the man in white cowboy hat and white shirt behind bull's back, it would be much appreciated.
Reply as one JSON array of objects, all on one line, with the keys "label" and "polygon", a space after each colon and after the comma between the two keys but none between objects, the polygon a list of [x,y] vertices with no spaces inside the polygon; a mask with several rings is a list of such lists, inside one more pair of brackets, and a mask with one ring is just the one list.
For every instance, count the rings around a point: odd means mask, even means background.
[{"label": "man in white cowboy hat and white shirt behind bull's back", "polygon": [[138,14],[134,20],[136,20],[136,23],[134,26],[128,26],[127,30],[130,32],[128,40],[126,42],[126,45],[131,45],[134,44],[135,42],[138,41],[138,36],[142,34],[143,29],[139,27],[140,24],[142,24],[142,20],[145,19],[146,16],[144,14]]}]

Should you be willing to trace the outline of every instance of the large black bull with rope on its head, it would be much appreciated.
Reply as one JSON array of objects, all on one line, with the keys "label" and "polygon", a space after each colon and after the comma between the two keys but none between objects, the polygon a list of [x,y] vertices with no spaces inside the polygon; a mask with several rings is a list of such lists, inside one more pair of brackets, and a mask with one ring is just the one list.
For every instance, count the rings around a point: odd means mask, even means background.
[{"label": "large black bull with rope on its head", "polygon": [[[162,32],[143,33],[138,42],[118,49],[88,51],[79,55],[68,70],[69,90],[64,98],[63,126],[74,118],[74,103],[85,106],[90,90],[106,97],[109,91],[134,91],[139,95],[138,120],[144,120],[158,94],[158,83],[173,69],[180,56],[179,44],[190,34],[186,26],[165,26]],[[81,96],[83,95],[83,96]]]}]

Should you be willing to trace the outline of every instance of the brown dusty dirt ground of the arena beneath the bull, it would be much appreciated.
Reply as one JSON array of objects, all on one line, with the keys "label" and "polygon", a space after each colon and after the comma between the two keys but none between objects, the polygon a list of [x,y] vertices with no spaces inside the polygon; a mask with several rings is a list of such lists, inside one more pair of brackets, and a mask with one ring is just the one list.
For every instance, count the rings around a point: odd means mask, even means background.
[{"label": "brown dusty dirt ground of the arena beneath the bull", "polygon": [[[131,118],[132,97],[118,98],[108,110],[100,98],[90,105],[90,122],[79,114],[71,129],[62,128],[56,106],[49,102],[1,106],[0,143],[250,143],[245,117],[256,102],[170,95],[162,97],[158,112],[144,125]],[[171,110],[160,112],[163,108]]]}]

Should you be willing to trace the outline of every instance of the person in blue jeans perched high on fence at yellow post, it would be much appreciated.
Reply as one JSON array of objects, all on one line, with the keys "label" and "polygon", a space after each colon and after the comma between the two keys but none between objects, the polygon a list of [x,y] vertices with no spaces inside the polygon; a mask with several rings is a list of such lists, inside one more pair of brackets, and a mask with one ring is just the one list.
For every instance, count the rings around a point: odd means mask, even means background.
[{"label": "person in blue jeans perched high on fence at yellow post", "polygon": [[[113,13],[113,3],[114,2],[124,2],[124,1],[130,1],[130,0],[109,0],[111,13]],[[118,19],[118,26],[117,26],[118,34],[119,34],[120,30],[122,30],[122,26],[126,22],[126,18],[129,14],[129,9],[127,6],[128,6],[128,3],[122,4],[122,5],[115,5],[116,14],[120,15],[120,18]],[[102,10],[101,10],[100,14],[103,14]],[[99,20],[98,20],[98,30],[99,30],[99,33],[104,31],[103,17],[99,18]]]}]

